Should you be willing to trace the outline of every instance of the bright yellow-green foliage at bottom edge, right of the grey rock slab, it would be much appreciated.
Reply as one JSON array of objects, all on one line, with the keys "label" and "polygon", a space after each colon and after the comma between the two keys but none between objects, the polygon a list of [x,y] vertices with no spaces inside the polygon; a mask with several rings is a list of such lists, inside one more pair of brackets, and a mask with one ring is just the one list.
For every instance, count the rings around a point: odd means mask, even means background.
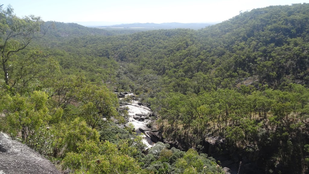
[{"label": "bright yellow-green foliage at bottom edge, right of the grey rock slab", "polygon": [[128,146],[97,141],[78,143],[77,152],[69,152],[63,160],[63,169],[74,173],[125,174],[136,173],[138,162],[123,153]]}]

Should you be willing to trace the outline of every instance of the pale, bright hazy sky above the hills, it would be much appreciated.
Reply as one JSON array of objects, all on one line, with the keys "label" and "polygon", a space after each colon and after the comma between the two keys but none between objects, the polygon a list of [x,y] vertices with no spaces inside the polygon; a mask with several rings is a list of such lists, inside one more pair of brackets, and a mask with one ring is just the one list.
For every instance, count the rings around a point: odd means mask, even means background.
[{"label": "pale, bright hazy sky above the hills", "polygon": [[44,21],[99,23],[218,23],[272,5],[309,3],[309,0],[0,0],[19,16],[41,16]]}]

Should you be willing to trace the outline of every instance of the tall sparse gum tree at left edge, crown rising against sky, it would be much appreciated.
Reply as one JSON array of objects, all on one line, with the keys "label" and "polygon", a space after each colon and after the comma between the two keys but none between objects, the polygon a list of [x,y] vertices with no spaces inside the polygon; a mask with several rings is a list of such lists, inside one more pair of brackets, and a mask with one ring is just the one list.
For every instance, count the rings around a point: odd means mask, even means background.
[{"label": "tall sparse gum tree at left edge, crown rising against sky", "polygon": [[0,63],[5,85],[25,88],[32,79],[54,77],[58,63],[48,60],[39,65],[46,57],[41,50],[34,50],[24,55],[18,52],[26,49],[32,40],[43,37],[51,27],[44,26],[44,21],[34,15],[19,18],[9,5],[0,6]]}]

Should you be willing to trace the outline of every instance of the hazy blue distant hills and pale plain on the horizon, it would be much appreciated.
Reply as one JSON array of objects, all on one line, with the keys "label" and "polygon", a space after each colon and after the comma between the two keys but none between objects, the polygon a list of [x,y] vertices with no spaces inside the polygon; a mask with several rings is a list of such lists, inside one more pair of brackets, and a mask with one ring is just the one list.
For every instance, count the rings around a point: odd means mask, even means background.
[{"label": "hazy blue distant hills and pale plain on the horizon", "polygon": [[200,29],[210,26],[210,23],[123,23],[110,26],[100,26],[97,28],[191,28],[191,29]]}]

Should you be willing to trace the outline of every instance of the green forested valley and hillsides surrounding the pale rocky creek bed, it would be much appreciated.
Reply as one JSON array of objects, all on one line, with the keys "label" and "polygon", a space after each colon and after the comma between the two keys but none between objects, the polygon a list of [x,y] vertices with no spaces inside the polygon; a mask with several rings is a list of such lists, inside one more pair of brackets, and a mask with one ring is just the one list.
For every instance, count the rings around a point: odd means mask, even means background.
[{"label": "green forested valley and hillsides surrounding the pale rocky creek bed", "polygon": [[[199,30],[104,30],[0,6],[0,130],[68,173],[309,173],[309,4]],[[114,91],[156,115],[144,150]],[[1,155],[1,152],[0,152]]]}]

